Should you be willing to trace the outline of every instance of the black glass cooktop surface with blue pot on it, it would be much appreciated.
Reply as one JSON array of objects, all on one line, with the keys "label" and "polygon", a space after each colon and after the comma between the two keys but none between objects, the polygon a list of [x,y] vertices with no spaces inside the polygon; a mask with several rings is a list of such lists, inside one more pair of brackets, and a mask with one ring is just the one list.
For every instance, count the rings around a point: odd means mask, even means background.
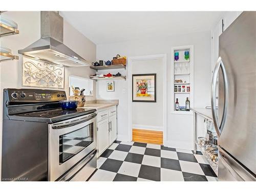
[{"label": "black glass cooktop surface with blue pot on it", "polygon": [[82,115],[87,115],[90,113],[94,113],[95,109],[81,109],[77,108],[75,110],[46,110],[46,111],[38,111],[32,113],[24,113],[12,115],[16,118],[23,118],[28,121],[38,121],[38,122],[56,122],[60,120],[66,120],[74,117],[79,117]]}]

